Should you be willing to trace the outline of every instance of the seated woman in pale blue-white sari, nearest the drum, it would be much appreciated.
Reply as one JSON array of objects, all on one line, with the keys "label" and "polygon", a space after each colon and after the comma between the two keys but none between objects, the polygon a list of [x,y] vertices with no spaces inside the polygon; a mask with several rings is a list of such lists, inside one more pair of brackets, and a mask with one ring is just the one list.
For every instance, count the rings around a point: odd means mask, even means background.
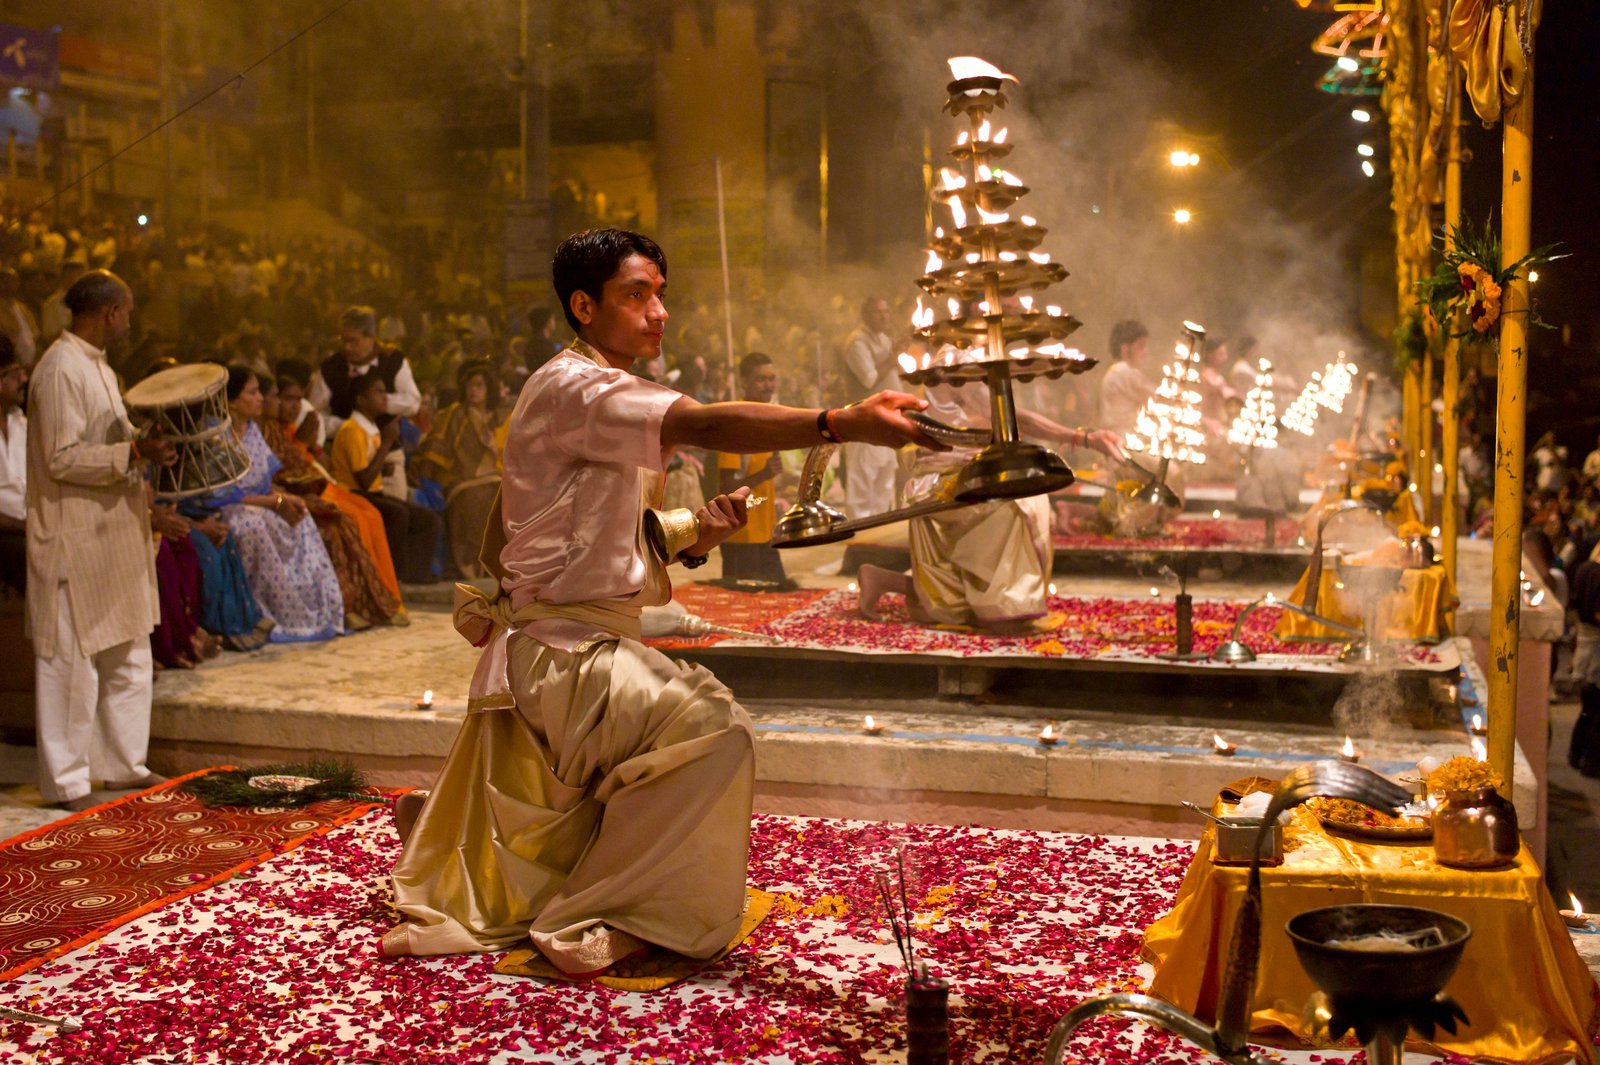
[{"label": "seated woman in pale blue-white sari, nearest the drum", "polygon": [[238,556],[264,617],[275,622],[270,640],[294,643],[326,640],[344,632],[344,598],[339,579],[322,545],[317,523],[299,496],[272,485],[282,462],[267,448],[256,425],[261,385],[243,366],[227,369],[227,408],[234,437],[250,456],[245,478],[203,499],[219,507],[238,542]]}]

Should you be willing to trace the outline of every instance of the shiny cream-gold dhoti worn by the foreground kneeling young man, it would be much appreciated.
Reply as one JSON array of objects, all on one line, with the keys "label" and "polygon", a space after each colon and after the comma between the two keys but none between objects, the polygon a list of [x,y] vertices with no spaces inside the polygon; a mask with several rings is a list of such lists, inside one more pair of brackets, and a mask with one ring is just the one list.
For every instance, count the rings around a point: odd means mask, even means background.
[{"label": "shiny cream-gold dhoti worn by the foreground kneeling young man", "polygon": [[408,923],[384,953],[531,937],[557,967],[587,972],[627,953],[613,929],[696,958],[728,945],[744,905],[750,721],[709,672],[635,636],[563,651],[494,633],[395,865]]}]

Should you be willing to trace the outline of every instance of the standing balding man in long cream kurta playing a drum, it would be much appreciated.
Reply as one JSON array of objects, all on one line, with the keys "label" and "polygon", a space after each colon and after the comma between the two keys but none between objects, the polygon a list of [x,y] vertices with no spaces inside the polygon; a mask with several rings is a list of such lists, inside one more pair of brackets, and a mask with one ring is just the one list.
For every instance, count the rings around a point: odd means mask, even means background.
[{"label": "standing balding man in long cream kurta playing a drum", "polygon": [[[150,628],[160,620],[146,462],[173,445],[136,438],[106,365],[128,334],[133,293],[90,270],[66,294],[72,325],[34,369],[27,409],[27,619],[34,638],[38,790],[88,809],[112,790],[160,784],[150,740]],[[99,736],[99,744],[94,744]]]}]

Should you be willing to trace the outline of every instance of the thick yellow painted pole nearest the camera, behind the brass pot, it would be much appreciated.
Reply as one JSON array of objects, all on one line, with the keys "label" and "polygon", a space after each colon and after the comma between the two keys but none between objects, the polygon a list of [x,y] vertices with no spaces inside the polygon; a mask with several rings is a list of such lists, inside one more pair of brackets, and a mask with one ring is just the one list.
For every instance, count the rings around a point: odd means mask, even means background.
[{"label": "thick yellow painted pole nearest the camera, behind the brass pot", "polygon": [[[1525,0],[1506,11],[1522,21]],[[1528,254],[1533,213],[1533,42],[1522,96],[1506,109],[1501,149],[1501,264]],[[1490,574],[1490,764],[1510,793],[1517,752],[1517,649],[1522,640],[1522,507],[1526,469],[1528,275],[1501,296],[1494,405],[1494,553]]]}]

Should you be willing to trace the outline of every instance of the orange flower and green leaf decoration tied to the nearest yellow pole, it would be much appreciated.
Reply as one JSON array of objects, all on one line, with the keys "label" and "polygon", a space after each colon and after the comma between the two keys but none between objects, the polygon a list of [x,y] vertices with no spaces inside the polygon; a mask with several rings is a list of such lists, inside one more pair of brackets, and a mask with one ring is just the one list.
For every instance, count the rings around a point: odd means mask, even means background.
[{"label": "orange flower and green leaf decoration tied to the nearest yellow pole", "polygon": [[[1416,283],[1430,325],[1451,328],[1450,336],[1467,344],[1498,341],[1506,286],[1526,270],[1565,257],[1552,256],[1554,249],[1555,245],[1534,248],[1501,265],[1501,241],[1493,222],[1482,232],[1472,222],[1450,227],[1448,240],[1440,245],[1438,269]],[[1538,318],[1533,321],[1544,325]]]}]

